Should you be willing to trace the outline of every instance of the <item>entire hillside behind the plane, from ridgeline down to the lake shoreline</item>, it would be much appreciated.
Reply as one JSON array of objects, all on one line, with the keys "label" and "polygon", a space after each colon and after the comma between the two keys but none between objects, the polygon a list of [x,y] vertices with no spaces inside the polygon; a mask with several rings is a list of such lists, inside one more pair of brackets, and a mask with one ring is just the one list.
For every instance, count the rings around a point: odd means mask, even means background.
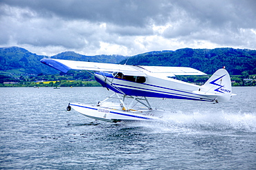
[{"label": "entire hillside behind the plane, from ridgeline down to the lake shoreline", "polygon": [[[232,85],[256,84],[256,50],[184,48],[176,51],[165,50],[138,54],[129,57],[127,61],[125,56],[119,55],[84,56],[75,52],[62,52],[55,56],[40,56],[21,47],[2,47],[0,48],[0,86],[33,87],[36,81],[62,81],[60,86],[98,85],[84,83],[94,80],[93,75],[88,72],[70,70],[64,74],[40,63],[39,61],[43,58],[121,64],[127,62],[127,65],[193,67],[207,74],[213,74],[219,68],[226,66],[231,74]],[[198,84],[207,80],[207,77],[197,76],[177,76],[177,78]],[[16,84],[3,84],[4,82],[16,82]]]}]

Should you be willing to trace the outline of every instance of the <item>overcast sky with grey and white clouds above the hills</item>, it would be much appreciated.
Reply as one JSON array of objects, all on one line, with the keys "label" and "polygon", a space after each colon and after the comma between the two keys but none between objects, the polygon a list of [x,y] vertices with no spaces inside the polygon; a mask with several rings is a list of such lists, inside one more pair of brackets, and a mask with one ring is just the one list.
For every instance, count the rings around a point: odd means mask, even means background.
[{"label": "overcast sky with grey and white clouds above the hills", "polygon": [[256,0],[0,0],[0,47],[132,56],[256,49]]}]

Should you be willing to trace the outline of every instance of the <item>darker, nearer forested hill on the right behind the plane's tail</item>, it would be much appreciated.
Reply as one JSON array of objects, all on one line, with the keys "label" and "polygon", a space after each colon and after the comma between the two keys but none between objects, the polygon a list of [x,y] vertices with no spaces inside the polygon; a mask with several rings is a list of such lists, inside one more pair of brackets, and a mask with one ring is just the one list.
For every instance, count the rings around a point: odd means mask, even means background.
[{"label": "darker, nearer forested hill on the right behind the plane's tail", "polygon": [[256,50],[184,48],[176,51],[148,52],[131,56],[127,65],[192,67],[207,74],[213,74],[226,66],[226,70],[232,75],[242,72],[256,74]]}]

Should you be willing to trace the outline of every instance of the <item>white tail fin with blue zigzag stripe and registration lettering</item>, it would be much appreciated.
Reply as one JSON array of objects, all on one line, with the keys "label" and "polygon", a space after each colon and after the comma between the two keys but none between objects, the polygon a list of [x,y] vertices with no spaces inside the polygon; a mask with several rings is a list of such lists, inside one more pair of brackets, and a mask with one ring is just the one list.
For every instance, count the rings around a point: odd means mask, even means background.
[{"label": "white tail fin with blue zigzag stripe and registration lettering", "polygon": [[230,75],[226,69],[219,69],[201,86],[199,91],[194,92],[204,96],[214,96],[214,101],[217,103],[224,103],[230,100],[232,94],[232,87]]}]

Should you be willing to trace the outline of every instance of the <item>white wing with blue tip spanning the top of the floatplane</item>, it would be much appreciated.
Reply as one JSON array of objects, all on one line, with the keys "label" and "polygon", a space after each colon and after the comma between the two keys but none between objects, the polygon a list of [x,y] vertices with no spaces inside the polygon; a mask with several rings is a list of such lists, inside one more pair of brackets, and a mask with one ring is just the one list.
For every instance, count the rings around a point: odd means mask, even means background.
[{"label": "white wing with blue tip spanning the top of the floatplane", "polygon": [[135,66],[60,59],[42,59],[41,63],[65,73],[68,72],[68,70],[91,70],[98,72],[122,72],[123,74],[130,76],[146,76],[143,72],[146,70],[147,72],[156,73],[162,76],[207,75],[190,67]]}]

